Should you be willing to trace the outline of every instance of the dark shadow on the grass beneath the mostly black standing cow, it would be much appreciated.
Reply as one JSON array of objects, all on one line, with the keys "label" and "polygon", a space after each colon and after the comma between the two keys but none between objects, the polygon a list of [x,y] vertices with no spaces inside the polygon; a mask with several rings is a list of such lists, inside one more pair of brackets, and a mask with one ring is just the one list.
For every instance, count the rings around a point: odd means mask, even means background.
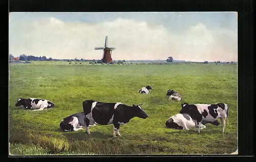
[{"label": "dark shadow on the grass beneath the mostly black standing cow", "polygon": [[[58,129],[57,131],[61,131]],[[62,131],[63,132],[63,131]],[[100,138],[100,139],[108,139],[113,138],[110,134],[103,134],[99,131],[91,132],[91,136],[89,136],[86,131],[77,131],[77,132],[64,132],[63,135],[67,136],[69,139],[76,139],[78,141],[80,140],[89,140],[90,138]]]}]

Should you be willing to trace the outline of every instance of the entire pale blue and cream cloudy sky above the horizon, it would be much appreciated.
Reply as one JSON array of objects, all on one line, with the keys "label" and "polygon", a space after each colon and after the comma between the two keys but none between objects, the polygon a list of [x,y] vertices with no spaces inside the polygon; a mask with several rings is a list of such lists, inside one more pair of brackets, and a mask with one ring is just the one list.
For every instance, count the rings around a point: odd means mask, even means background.
[{"label": "entire pale blue and cream cloudy sky above the horizon", "polygon": [[113,60],[237,61],[236,12],[12,12],[9,54]]}]

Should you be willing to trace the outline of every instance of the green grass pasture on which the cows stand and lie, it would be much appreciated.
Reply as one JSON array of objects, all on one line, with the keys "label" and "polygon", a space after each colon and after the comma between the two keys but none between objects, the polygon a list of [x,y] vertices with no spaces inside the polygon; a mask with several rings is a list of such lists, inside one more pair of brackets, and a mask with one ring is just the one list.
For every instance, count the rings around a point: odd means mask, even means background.
[{"label": "green grass pasture on which the cows stand and lie", "polygon": [[[236,151],[238,141],[237,64],[101,65],[68,62],[10,64],[9,140],[12,155],[48,154],[224,154]],[[151,85],[150,94],[139,94]],[[229,123],[196,129],[165,128],[166,120],[181,109],[181,101],[168,101],[167,89],[180,92],[182,102],[229,105]],[[44,111],[15,107],[18,98],[41,98],[55,108]],[[84,100],[143,103],[149,115],[120,126],[113,125],[62,132],[60,121],[82,112]]]}]

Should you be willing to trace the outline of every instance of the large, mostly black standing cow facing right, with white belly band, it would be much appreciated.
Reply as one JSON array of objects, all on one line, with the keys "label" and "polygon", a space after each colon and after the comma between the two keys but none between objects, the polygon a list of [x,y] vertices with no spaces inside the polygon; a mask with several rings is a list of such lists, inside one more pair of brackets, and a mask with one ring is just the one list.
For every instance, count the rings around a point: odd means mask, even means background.
[{"label": "large, mostly black standing cow facing right, with white belly band", "polygon": [[86,115],[86,132],[91,135],[89,124],[114,125],[113,136],[121,135],[119,132],[120,125],[128,123],[132,118],[138,117],[146,119],[148,115],[140,107],[140,105],[127,106],[120,102],[104,103],[94,100],[86,100],[82,102],[83,112]]}]

